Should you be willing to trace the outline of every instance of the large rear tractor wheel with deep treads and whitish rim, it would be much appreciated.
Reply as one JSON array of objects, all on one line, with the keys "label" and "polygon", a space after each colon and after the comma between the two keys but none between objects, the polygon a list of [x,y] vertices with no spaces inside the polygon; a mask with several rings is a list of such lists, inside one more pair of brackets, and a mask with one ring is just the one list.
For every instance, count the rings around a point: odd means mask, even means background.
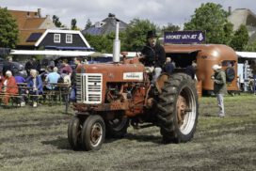
[{"label": "large rear tractor wheel with deep treads and whitish rim", "polygon": [[157,109],[165,143],[191,140],[199,115],[195,82],[184,73],[171,75],[158,96]]}]

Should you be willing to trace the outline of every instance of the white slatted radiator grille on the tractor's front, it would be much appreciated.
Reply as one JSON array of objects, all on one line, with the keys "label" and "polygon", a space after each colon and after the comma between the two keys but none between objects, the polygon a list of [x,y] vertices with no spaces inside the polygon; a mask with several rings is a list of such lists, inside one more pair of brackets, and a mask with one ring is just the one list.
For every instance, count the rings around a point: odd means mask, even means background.
[{"label": "white slatted radiator grille on the tractor's front", "polygon": [[102,102],[103,75],[100,73],[78,73],[76,75],[76,100],[95,104]]}]

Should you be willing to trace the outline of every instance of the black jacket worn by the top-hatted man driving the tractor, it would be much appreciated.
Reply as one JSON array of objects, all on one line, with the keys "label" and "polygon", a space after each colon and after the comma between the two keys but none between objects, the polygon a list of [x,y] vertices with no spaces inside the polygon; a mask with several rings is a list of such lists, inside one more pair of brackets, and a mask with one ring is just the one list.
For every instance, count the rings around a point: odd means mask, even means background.
[{"label": "black jacket worn by the top-hatted man driving the tractor", "polygon": [[160,67],[162,68],[166,62],[166,52],[163,46],[156,44],[151,47],[150,44],[144,46],[141,54],[145,55],[144,65],[147,67]]}]

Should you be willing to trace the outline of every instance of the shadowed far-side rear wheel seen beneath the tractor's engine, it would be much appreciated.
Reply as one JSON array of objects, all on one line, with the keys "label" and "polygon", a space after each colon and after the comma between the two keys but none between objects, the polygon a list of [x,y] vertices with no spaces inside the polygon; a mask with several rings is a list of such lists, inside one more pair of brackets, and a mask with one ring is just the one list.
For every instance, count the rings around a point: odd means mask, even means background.
[{"label": "shadowed far-side rear wheel seen beneath the tractor's engine", "polygon": [[107,120],[105,123],[106,137],[108,138],[121,138],[127,134],[129,126],[129,118],[118,117],[112,120]]}]

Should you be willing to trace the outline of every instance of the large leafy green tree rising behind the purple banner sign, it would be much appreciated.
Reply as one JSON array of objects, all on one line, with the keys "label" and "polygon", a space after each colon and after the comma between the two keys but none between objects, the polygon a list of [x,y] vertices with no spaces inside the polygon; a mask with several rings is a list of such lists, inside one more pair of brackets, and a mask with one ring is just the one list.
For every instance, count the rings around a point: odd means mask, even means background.
[{"label": "large leafy green tree rising behind the purple banner sign", "polygon": [[[228,12],[219,4],[201,4],[200,8],[196,8],[191,21],[184,23],[184,30],[205,30],[207,43],[226,43],[232,35],[230,32],[232,25],[228,23],[227,16]],[[224,29],[225,27],[227,30]]]}]

